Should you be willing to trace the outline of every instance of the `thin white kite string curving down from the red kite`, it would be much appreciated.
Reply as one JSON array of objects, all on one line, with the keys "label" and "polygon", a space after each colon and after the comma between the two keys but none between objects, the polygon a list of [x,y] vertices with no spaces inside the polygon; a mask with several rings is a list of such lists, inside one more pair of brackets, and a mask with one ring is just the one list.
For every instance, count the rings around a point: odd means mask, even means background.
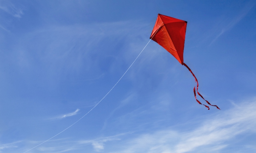
[{"label": "thin white kite string curving down from the red kite", "polygon": [[[163,23],[164,23],[164,22],[163,22]],[[162,24],[163,24],[163,23],[162,23]],[[161,25],[162,25],[162,24],[161,24]],[[159,26],[159,28],[160,28],[160,26]],[[157,29],[157,31],[159,30],[159,28]],[[157,33],[157,31],[156,31],[156,33]],[[156,33],[155,33],[155,34],[156,34]],[[152,36],[152,38],[155,36],[155,34]],[[152,39],[152,38],[151,38],[151,39]],[[149,42],[151,41],[151,39],[149,40]],[[149,42],[148,42],[148,43],[149,43]],[[148,45],[148,43],[147,43],[147,45]],[[147,46],[147,45],[146,45],[146,46]],[[143,48],[143,50],[146,48],[146,46]],[[142,51],[143,51],[143,50],[142,50]],[[140,54],[142,53],[142,51],[140,52]],[[140,56],[140,54],[136,57],[136,59]],[[132,62],[132,64],[136,61],[136,59]],[[132,66],[132,64],[130,65],[130,67]],[[124,74],[123,74],[122,77],[117,81],[117,83],[123,78],[123,76],[124,76],[125,73],[130,69],[130,67],[124,72]],[[117,83],[116,83],[116,84],[117,84]],[[110,89],[110,91],[116,86],[116,84]],[[96,107],[96,106],[110,93],[110,91],[109,91],[94,107]],[[93,108],[94,108],[94,107],[93,107]],[[92,108],[92,109],[93,109],[93,108]],[[92,109],[91,109],[91,110],[92,110]],[[90,111],[91,111],[91,110],[90,110]],[[88,111],[85,115],[87,115],[90,111]],[[79,120],[77,120],[76,122],[80,121],[85,115],[83,115],[83,116],[82,116]],[[76,123],[76,122],[75,122],[75,123]],[[73,123],[72,125],[74,125],[75,123]],[[70,125],[69,127],[67,127],[65,130],[67,130],[68,128],[70,128],[72,125]],[[52,138],[54,138],[55,136],[57,136],[57,135],[63,133],[65,130],[63,130],[62,132],[60,132],[60,133],[54,135],[54,136],[51,137],[50,139],[52,139]],[[48,139],[48,140],[50,140],[50,139]],[[47,142],[48,140],[45,140],[44,142],[40,143],[39,145],[41,145],[41,144]],[[37,145],[37,146],[39,146],[39,145]],[[35,147],[31,148],[31,149],[34,149],[34,148],[36,148],[37,146],[35,146]],[[25,152],[28,152],[28,151],[30,151],[31,149],[29,149],[29,150],[27,150],[27,151],[25,151]],[[25,153],[25,152],[24,152],[24,153]]]}]

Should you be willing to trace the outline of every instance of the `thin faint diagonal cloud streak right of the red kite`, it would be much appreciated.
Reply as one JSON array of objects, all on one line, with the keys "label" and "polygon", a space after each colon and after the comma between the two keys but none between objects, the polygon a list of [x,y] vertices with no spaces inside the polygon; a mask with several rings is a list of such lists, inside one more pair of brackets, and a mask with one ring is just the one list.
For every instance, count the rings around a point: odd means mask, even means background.
[{"label": "thin faint diagonal cloud streak right of the red kite", "polygon": [[233,20],[231,20],[225,27],[223,27],[221,29],[221,31],[219,32],[219,34],[211,41],[210,45],[212,43],[214,43],[223,33],[225,33],[226,31],[230,30],[231,28],[233,28],[241,19],[243,19],[248,13],[249,11],[255,6],[255,2],[248,2],[243,9],[241,10],[240,14],[234,18]]}]

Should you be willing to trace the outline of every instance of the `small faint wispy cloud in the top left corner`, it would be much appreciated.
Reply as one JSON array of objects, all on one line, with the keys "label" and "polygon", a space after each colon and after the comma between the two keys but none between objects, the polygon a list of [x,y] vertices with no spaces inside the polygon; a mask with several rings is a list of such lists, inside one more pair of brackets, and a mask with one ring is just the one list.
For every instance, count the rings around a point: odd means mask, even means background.
[{"label": "small faint wispy cloud in the top left corner", "polygon": [[0,9],[16,18],[21,18],[24,14],[21,9],[15,7],[10,1],[0,1]]}]

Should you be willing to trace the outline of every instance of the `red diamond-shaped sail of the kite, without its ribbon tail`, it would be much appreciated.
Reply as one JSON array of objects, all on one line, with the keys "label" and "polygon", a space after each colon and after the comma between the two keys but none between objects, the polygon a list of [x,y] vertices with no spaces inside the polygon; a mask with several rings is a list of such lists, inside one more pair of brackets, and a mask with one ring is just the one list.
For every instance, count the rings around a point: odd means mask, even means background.
[{"label": "red diamond-shaped sail of the kite, without its ribbon tail", "polygon": [[158,14],[150,39],[157,42],[183,64],[187,21]]}]

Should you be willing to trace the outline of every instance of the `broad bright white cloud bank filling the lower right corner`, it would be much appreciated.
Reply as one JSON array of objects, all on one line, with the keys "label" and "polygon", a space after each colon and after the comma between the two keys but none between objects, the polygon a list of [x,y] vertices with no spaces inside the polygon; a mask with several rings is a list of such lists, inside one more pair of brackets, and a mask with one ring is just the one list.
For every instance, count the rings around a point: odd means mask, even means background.
[{"label": "broad bright white cloud bank filling the lower right corner", "polygon": [[[232,145],[232,140],[241,134],[256,134],[255,109],[256,99],[253,99],[228,111],[222,110],[215,117],[206,117],[202,124],[189,131],[168,129],[142,134],[122,144],[125,149],[117,152],[217,152]],[[255,151],[249,143],[245,148]]]}]

